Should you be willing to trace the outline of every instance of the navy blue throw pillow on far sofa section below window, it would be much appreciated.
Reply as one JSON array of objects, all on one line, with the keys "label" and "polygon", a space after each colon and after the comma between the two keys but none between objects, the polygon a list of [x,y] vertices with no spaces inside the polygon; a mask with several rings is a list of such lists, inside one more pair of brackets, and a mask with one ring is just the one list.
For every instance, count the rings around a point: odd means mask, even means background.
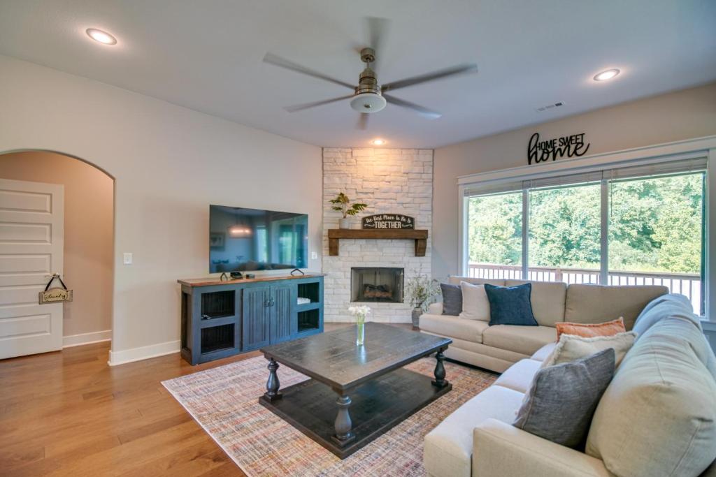
[{"label": "navy blue throw pillow on far sofa section below window", "polygon": [[531,283],[516,287],[496,287],[485,283],[485,293],[490,302],[490,326],[538,326],[530,301]]}]

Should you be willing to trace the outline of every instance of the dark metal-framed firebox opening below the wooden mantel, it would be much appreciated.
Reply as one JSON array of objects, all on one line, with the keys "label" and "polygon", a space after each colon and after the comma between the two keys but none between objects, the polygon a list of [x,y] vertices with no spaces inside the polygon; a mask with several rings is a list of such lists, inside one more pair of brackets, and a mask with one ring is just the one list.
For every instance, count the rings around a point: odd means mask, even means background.
[{"label": "dark metal-framed firebox opening below the wooden mantel", "polygon": [[351,301],[402,303],[403,269],[354,267],[351,269]]}]

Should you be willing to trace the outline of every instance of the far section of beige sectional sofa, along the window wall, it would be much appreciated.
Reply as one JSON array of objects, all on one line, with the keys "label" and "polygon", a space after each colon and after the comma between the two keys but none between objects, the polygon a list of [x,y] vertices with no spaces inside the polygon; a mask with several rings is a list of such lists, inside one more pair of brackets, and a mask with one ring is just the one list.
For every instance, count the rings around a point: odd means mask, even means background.
[{"label": "far section of beige sectional sofa, along the window wall", "polygon": [[[450,277],[450,283],[489,283],[512,287],[523,280],[485,280]],[[442,315],[442,303],[433,303],[420,316],[420,331],[453,339],[445,355],[462,363],[502,373],[519,360],[557,339],[555,323],[604,323],[624,317],[631,330],[639,312],[669,290],[662,286],[567,285],[562,282],[530,282],[532,311],[539,326],[489,326],[487,321]]]}]

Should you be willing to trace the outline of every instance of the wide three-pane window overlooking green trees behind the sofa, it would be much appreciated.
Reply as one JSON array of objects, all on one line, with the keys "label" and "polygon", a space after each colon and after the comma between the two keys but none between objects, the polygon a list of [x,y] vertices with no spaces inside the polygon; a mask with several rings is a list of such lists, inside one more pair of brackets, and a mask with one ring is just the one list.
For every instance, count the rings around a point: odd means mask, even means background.
[{"label": "wide three-pane window overlooking green trees behind the sofa", "polygon": [[664,285],[704,314],[706,159],[465,188],[468,275]]}]

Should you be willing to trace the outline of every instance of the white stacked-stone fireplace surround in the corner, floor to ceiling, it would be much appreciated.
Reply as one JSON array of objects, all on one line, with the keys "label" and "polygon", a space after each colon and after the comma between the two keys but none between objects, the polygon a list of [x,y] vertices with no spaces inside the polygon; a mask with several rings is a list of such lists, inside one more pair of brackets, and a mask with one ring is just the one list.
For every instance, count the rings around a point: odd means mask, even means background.
[{"label": "white stacked-stone fireplace surround in the corner, floor to ceiling", "polygon": [[[372,310],[369,320],[410,323],[411,307],[405,303],[403,286],[415,275],[431,273],[432,150],[326,147],[323,171],[326,322],[352,321],[349,306],[362,303]],[[364,215],[415,217],[415,228],[428,230],[425,257],[415,256],[415,240],[375,239],[341,239],[339,255],[330,256],[328,230],[338,228],[341,215],[331,210],[329,200],[339,192],[368,205],[354,218],[354,228],[360,228]],[[367,269],[372,272],[363,272]],[[402,274],[387,271],[392,269]]]}]

